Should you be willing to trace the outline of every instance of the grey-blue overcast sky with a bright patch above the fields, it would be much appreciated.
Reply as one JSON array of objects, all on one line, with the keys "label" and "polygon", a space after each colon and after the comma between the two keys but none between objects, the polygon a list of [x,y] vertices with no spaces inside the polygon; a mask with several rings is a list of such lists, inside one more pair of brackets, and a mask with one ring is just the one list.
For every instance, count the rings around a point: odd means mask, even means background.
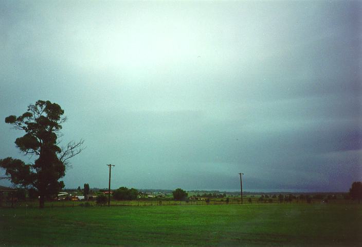
[{"label": "grey-blue overcast sky with a bright patch above the fields", "polygon": [[[0,2],[4,119],[61,105],[66,188],[347,191],[362,180],[361,2]],[[10,185],[0,180],[0,185]]]}]

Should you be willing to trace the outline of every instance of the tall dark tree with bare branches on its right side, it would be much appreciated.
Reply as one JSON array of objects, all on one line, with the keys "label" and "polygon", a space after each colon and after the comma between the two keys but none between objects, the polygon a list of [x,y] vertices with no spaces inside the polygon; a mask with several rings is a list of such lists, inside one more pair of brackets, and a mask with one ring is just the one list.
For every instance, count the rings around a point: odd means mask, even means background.
[{"label": "tall dark tree with bare branches on its right side", "polygon": [[46,197],[52,197],[64,187],[59,181],[65,175],[69,159],[79,154],[83,140],[78,143],[69,142],[60,148],[58,138],[61,124],[66,121],[64,110],[57,103],[38,100],[30,104],[21,116],[8,116],[6,123],[15,129],[25,132],[16,138],[16,147],[24,154],[35,156],[33,164],[7,157],[0,160],[0,168],[5,169],[7,178],[14,184],[23,187],[37,188],[40,196],[39,206],[44,207]]}]

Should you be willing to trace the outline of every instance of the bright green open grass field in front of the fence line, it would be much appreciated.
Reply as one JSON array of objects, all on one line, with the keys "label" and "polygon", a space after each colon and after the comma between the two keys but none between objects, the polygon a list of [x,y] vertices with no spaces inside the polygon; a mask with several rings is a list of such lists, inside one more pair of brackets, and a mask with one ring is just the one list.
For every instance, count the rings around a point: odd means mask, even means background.
[{"label": "bright green open grass field in front of the fence line", "polygon": [[362,244],[362,205],[0,208],[2,246]]}]

